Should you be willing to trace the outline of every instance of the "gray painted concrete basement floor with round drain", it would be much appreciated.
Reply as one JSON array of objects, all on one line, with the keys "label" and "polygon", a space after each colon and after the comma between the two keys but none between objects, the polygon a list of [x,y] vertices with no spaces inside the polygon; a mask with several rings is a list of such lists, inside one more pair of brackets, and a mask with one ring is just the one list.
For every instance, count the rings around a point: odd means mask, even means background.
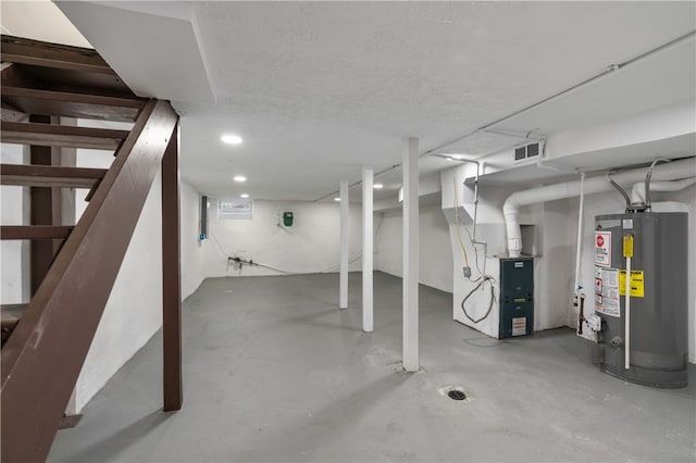
[{"label": "gray painted concrete basement floor with round drain", "polygon": [[[400,371],[401,280],[206,280],[184,304],[184,408],[161,411],[161,334],[59,431],[52,462],[694,461],[696,388],[600,373],[570,329],[497,341],[421,287],[423,371]],[[460,386],[465,401],[443,389]]]}]

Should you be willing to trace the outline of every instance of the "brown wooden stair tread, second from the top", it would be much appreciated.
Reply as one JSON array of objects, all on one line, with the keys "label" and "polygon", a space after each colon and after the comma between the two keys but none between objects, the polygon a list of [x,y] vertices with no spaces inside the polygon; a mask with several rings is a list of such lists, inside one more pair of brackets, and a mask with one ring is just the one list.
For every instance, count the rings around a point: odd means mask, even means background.
[{"label": "brown wooden stair tread, second from the top", "polygon": [[26,114],[134,122],[147,100],[23,87],[2,87],[2,102]]}]

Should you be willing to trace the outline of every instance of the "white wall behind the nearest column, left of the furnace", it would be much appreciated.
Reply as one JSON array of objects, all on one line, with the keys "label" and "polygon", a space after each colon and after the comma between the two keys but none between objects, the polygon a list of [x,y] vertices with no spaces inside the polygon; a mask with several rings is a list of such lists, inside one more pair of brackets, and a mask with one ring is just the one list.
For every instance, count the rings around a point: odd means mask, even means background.
[{"label": "white wall behind the nearest column, left of the furnace", "polygon": [[[400,209],[394,209],[382,214],[382,226],[375,240],[375,270],[401,276],[402,213]],[[420,208],[420,283],[452,292],[452,250],[447,221],[439,205]]]}]

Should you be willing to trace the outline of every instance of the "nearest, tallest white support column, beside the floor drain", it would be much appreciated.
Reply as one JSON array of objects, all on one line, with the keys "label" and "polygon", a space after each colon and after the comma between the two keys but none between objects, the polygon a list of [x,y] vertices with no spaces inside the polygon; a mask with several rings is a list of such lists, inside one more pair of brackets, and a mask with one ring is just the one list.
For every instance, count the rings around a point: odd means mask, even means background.
[{"label": "nearest, tallest white support column, beside the floor drain", "polygon": [[409,138],[403,150],[403,370],[419,368],[419,148],[418,138]]}]

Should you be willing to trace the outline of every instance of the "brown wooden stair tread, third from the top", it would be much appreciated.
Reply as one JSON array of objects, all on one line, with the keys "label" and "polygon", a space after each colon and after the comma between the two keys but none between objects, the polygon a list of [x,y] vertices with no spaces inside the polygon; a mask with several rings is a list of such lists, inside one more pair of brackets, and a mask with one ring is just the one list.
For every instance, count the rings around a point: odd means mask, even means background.
[{"label": "brown wooden stair tread, third from the top", "polygon": [[76,127],[26,122],[0,123],[2,141],[45,147],[94,148],[112,150],[125,139],[128,130]]}]

